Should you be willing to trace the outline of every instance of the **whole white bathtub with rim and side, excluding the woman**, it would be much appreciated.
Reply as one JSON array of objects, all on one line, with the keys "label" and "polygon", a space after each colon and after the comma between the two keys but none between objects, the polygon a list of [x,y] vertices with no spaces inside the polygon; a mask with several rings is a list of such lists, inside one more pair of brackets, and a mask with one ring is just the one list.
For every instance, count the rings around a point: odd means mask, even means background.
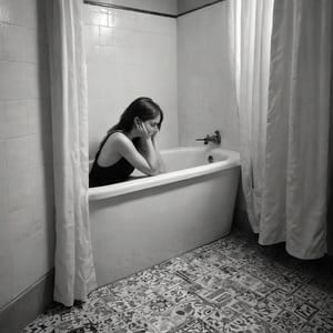
[{"label": "whole white bathtub with rim and side, excluding the woman", "polygon": [[167,173],[135,172],[123,183],[89,189],[99,286],[231,230],[240,178],[238,152],[211,148],[162,151]]}]

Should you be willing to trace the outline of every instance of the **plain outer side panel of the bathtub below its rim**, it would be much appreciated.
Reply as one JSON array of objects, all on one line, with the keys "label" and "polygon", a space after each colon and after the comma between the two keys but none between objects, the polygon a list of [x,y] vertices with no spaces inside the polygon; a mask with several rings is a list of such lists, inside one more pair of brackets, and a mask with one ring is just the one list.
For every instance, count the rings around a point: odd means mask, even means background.
[{"label": "plain outer side panel of the bathtub below its rim", "polygon": [[231,229],[239,168],[91,201],[99,285],[206,244]]}]

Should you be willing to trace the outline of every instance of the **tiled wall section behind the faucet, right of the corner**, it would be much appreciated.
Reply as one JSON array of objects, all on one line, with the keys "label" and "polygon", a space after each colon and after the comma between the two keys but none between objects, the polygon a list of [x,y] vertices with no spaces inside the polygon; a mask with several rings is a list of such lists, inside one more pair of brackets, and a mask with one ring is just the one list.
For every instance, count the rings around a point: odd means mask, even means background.
[{"label": "tiled wall section behind the faucet, right of the corner", "polygon": [[225,1],[179,17],[176,31],[180,144],[220,130],[222,147],[238,150]]}]

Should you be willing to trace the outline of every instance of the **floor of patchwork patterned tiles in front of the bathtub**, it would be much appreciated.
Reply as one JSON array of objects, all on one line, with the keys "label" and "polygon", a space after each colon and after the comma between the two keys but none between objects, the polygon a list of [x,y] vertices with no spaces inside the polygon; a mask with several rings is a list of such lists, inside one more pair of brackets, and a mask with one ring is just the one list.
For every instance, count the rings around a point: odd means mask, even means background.
[{"label": "floor of patchwork patterned tiles in front of the bathtub", "polygon": [[54,306],[23,332],[333,332],[332,259],[226,238]]}]

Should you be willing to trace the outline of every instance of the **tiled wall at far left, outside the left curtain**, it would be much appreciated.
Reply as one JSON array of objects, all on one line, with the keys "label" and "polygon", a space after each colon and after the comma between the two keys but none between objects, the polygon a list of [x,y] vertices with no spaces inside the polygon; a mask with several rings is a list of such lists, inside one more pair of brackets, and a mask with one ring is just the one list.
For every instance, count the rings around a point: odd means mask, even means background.
[{"label": "tiled wall at far left, outside the left curtain", "polygon": [[0,309],[53,266],[43,2],[0,1]]}]

